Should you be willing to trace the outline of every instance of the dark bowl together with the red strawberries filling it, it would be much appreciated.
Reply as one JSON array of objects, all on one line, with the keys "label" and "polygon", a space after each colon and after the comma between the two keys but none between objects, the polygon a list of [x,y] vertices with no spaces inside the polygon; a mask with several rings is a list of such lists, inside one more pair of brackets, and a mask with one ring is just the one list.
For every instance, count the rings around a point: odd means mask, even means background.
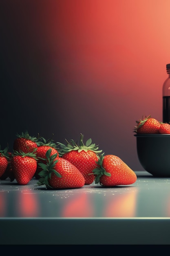
[{"label": "dark bowl together with the red strawberries filling it", "polygon": [[134,136],[141,166],[155,177],[170,177],[170,124],[151,116],[136,123]]}]

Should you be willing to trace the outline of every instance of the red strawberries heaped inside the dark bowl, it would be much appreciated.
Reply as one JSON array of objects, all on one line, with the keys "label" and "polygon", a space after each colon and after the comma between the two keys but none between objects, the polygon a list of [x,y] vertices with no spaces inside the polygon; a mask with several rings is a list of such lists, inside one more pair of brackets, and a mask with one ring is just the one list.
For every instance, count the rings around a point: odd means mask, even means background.
[{"label": "red strawberries heaped inside the dark bowl", "polygon": [[142,117],[136,123],[134,132],[137,134],[170,134],[170,123],[162,123],[155,118],[151,118],[150,115],[145,118]]}]

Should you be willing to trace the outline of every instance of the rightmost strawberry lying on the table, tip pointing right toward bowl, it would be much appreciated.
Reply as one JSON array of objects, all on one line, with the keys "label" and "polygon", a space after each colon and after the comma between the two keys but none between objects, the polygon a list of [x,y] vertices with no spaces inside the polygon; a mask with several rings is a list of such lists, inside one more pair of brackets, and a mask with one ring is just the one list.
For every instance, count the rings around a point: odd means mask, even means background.
[{"label": "rightmost strawberry lying on the table, tip pointing right toward bowl", "polygon": [[93,170],[95,184],[102,186],[117,186],[132,184],[137,180],[137,175],[116,155],[102,154],[97,162],[99,167]]}]

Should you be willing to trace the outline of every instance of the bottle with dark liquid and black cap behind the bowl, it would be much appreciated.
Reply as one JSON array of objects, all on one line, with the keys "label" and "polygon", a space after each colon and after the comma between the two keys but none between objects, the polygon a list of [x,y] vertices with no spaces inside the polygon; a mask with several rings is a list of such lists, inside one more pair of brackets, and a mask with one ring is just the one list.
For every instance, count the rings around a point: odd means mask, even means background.
[{"label": "bottle with dark liquid and black cap behind the bowl", "polygon": [[163,123],[170,123],[170,64],[166,65],[168,78],[163,83]]}]

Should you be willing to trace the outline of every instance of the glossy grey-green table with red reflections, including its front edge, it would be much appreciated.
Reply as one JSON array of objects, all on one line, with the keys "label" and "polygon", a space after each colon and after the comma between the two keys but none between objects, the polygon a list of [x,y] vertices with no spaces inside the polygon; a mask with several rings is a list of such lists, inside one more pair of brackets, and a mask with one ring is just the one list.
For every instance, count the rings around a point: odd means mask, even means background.
[{"label": "glossy grey-green table with red reflections, including its front edge", "polygon": [[0,180],[0,244],[170,244],[170,177],[135,173],[108,188]]}]

